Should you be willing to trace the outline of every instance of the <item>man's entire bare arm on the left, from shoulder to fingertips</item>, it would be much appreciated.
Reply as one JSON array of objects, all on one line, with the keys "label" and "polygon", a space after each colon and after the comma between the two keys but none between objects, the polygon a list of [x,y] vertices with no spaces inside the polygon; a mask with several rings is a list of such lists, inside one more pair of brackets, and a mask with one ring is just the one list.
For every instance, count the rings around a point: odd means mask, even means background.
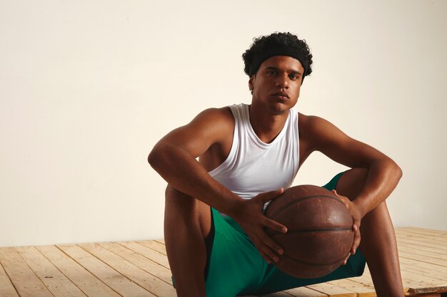
[{"label": "man's entire bare arm on the left, from shoulder to fingertips", "polygon": [[151,151],[148,161],[171,187],[228,214],[250,236],[266,261],[278,261],[283,251],[264,231],[265,227],[286,231],[286,227],[263,215],[263,205],[283,189],[243,200],[216,182],[196,160],[210,147],[224,147],[233,139],[234,120],[224,109],[205,110],[191,123],[173,130]]}]

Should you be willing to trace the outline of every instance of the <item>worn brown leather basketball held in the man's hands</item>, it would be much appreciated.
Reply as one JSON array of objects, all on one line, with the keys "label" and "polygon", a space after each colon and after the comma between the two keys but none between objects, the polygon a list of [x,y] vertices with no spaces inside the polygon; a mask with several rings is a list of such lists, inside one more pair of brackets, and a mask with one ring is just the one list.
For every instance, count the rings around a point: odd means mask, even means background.
[{"label": "worn brown leather basketball held in the man's hands", "polygon": [[353,244],[352,217],[335,194],[322,187],[286,189],[266,209],[266,216],[287,227],[267,229],[283,249],[276,266],[298,278],[316,278],[343,264]]}]

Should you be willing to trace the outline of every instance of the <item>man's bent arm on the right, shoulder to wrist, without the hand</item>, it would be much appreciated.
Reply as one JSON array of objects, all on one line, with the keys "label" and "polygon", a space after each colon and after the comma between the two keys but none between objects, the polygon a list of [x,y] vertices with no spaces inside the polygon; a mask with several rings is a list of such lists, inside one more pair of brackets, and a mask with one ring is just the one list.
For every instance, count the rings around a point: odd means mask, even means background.
[{"label": "man's bent arm on the right, shoulder to wrist, without the hand", "polygon": [[303,159],[318,150],[347,167],[368,169],[363,189],[357,197],[351,197],[361,217],[383,202],[398,184],[402,176],[401,168],[373,147],[348,137],[322,118],[300,115],[299,125],[303,138]]}]

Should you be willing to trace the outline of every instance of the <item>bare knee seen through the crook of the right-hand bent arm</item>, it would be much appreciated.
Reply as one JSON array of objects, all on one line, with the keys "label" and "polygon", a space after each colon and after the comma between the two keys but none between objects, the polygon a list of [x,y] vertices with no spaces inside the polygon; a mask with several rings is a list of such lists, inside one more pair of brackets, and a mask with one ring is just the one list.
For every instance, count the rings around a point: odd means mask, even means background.
[{"label": "bare knee seen through the crook of the right-hand bent arm", "polygon": [[368,170],[366,168],[353,168],[347,170],[338,179],[336,191],[338,194],[348,197],[353,200],[363,188],[368,177]]}]

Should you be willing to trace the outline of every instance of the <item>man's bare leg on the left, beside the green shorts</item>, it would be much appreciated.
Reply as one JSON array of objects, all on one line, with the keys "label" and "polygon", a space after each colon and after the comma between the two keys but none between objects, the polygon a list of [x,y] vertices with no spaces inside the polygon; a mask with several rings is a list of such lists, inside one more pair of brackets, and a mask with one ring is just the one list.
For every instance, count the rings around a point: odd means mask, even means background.
[{"label": "man's bare leg on the left, beside the green shorts", "polygon": [[168,186],[164,239],[179,297],[206,297],[204,239],[210,230],[210,207]]}]

